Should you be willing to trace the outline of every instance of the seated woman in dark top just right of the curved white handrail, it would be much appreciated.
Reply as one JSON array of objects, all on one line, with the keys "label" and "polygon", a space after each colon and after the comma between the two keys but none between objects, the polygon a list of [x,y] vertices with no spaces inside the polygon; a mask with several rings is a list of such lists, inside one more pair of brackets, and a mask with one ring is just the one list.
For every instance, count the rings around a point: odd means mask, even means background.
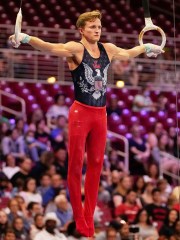
[{"label": "seated woman in dark top just right of the curved white handrail", "polygon": [[132,137],[129,139],[129,169],[132,175],[145,175],[150,156],[149,144],[141,136],[138,124],[132,126],[131,133]]}]

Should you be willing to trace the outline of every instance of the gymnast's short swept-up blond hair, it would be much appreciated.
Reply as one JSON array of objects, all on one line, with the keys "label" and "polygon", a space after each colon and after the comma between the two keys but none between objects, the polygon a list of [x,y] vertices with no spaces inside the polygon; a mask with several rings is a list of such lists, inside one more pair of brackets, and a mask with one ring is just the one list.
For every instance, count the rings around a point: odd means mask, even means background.
[{"label": "gymnast's short swept-up blond hair", "polygon": [[101,20],[101,13],[99,10],[94,10],[92,12],[85,12],[82,13],[79,17],[78,20],[76,22],[76,27],[80,28],[80,27],[84,27],[87,21],[93,21],[96,18],[99,18]]}]

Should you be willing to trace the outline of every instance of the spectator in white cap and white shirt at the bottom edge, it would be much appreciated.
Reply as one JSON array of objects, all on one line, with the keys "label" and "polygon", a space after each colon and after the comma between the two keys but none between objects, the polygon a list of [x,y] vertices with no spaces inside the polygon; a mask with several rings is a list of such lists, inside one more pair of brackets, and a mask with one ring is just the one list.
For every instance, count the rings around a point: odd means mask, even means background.
[{"label": "spectator in white cap and white shirt at the bottom edge", "polygon": [[56,214],[51,212],[47,213],[45,218],[45,228],[41,230],[35,236],[34,240],[42,240],[42,239],[51,239],[51,240],[66,240],[64,234],[60,233],[57,230],[58,225],[60,224],[59,219],[56,217]]}]

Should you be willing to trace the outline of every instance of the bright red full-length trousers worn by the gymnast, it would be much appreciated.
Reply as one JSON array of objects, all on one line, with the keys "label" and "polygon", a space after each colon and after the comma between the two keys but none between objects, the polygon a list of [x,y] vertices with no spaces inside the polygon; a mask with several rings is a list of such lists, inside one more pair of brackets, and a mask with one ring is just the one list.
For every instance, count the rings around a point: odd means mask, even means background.
[{"label": "bright red full-length trousers worn by the gymnast", "polygon": [[[104,160],[106,133],[106,107],[92,107],[77,101],[72,104],[69,112],[68,188],[76,229],[87,237],[94,234],[93,215]],[[81,180],[85,149],[87,169],[83,206]]]}]

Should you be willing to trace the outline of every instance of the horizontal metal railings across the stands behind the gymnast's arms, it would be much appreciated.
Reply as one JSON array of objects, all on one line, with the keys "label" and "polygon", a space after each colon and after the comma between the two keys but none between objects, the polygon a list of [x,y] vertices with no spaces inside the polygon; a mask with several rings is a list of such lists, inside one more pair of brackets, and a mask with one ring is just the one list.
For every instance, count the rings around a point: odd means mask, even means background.
[{"label": "horizontal metal railings across the stands behind the gymnast's arms", "polygon": [[[57,58],[34,50],[31,46],[21,45],[13,49],[8,37],[13,34],[14,26],[0,25],[0,77],[7,81],[26,81],[45,83],[51,76],[58,81],[71,81],[66,58]],[[75,30],[29,27],[22,31],[49,42],[78,41],[80,35]],[[112,42],[119,47],[131,48],[138,45],[137,34],[102,33],[102,42]],[[145,36],[145,42],[159,44],[160,37]],[[177,61],[174,61],[176,44]],[[126,85],[137,86],[151,82],[154,86],[176,88],[180,82],[180,39],[167,38],[166,53],[157,59],[149,59],[143,55],[130,61],[114,61],[109,70],[109,83],[115,84],[123,80]],[[170,60],[167,60],[170,59]],[[175,72],[176,64],[176,72]]]}]

